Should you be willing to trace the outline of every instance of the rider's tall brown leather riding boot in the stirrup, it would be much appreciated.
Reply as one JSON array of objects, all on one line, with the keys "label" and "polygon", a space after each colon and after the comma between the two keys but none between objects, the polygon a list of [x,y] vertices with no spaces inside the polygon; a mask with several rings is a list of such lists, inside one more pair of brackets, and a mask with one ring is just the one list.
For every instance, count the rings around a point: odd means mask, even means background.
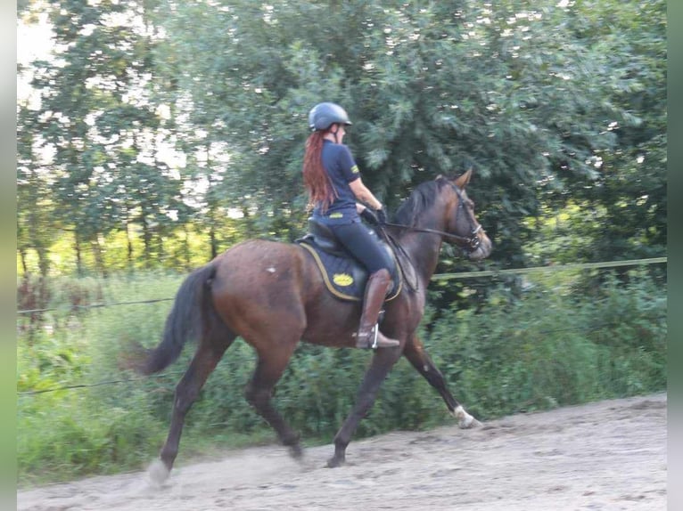
[{"label": "rider's tall brown leather riding boot in the stirrup", "polygon": [[393,348],[400,343],[384,337],[377,325],[387,289],[391,286],[391,277],[386,270],[370,275],[366,284],[366,296],[363,300],[363,314],[356,334],[357,348]]}]

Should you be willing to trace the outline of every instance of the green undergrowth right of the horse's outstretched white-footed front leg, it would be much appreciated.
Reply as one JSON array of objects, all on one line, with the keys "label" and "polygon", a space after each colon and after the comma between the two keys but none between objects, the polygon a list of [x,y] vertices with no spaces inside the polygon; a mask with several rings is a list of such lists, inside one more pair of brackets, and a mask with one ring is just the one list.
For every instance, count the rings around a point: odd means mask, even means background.
[{"label": "green undergrowth right of the horse's outstretched white-footed front leg", "polygon": [[632,279],[590,296],[566,281],[521,300],[499,288],[479,313],[444,315],[428,349],[482,418],[662,389],[666,294],[638,272]]}]

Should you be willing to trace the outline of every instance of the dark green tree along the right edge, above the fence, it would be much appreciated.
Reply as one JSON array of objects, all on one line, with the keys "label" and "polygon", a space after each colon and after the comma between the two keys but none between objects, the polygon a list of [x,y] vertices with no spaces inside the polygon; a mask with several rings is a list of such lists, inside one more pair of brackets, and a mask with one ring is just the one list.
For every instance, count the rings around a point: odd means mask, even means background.
[{"label": "dark green tree along the right edge, above the fence", "polygon": [[[666,3],[590,3],[572,19],[575,37],[612,80],[605,101],[621,116],[607,130],[615,150],[601,152],[601,171],[586,191],[597,222],[586,233],[595,242],[580,256],[605,260],[662,255],[667,239]],[[648,20],[647,23],[638,20]]]}]

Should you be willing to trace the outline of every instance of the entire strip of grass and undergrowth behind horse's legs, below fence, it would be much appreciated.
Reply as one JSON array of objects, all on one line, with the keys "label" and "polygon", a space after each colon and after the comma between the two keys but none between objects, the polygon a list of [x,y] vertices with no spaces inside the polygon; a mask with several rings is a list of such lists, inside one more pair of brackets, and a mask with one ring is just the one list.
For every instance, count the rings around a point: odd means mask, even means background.
[{"label": "entire strip of grass and undergrowth behind horse's legs, below fence", "polygon": [[[104,303],[173,296],[182,276],[163,273],[70,282]],[[427,351],[465,408],[482,420],[666,387],[666,289],[646,272],[615,277],[588,294],[579,272],[499,286],[478,311],[455,304],[425,315]],[[130,341],[155,345],[169,302],[70,310],[63,281],[33,336],[17,345],[17,452],[21,484],[139,469],[165,439],[175,385],[193,355],[155,377],[121,369]],[[26,321],[29,321],[27,318]],[[276,387],[276,407],[304,442],[330,442],[353,405],[371,353],[300,345]],[[217,448],[274,442],[243,398],[254,368],[237,341],[188,414],[180,462]],[[63,388],[86,385],[78,388]],[[54,390],[62,389],[62,390]],[[29,393],[31,391],[53,391]],[[440,396],[406,361],[383,383],[357,437],[446,423]]]}]

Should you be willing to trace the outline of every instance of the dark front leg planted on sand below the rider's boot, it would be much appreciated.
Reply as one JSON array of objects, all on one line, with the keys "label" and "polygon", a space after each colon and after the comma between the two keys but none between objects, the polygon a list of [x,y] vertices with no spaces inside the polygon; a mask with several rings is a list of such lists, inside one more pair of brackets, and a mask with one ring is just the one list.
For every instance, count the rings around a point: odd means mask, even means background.
[{"label": "dark front leg planted on sand below the rider's boot", "polygon": [[360,419],[366,416],[366,413],[373,406],[374,400],[377,396],[377,391],[382,385],[384,378],[387,377],[389,371],[399,360],[400,348],[383,348],[374,353],[373,361],[370,368],[367,369],[363,383],[358,389],[358,396],[353,405],[353,410],[346,418],[344,424],[334,435],[334,456],[327,460],[327,466],[335,467],[342,466],[346,461],[346,448],[349,445],[351,436],[356,431]]}]

